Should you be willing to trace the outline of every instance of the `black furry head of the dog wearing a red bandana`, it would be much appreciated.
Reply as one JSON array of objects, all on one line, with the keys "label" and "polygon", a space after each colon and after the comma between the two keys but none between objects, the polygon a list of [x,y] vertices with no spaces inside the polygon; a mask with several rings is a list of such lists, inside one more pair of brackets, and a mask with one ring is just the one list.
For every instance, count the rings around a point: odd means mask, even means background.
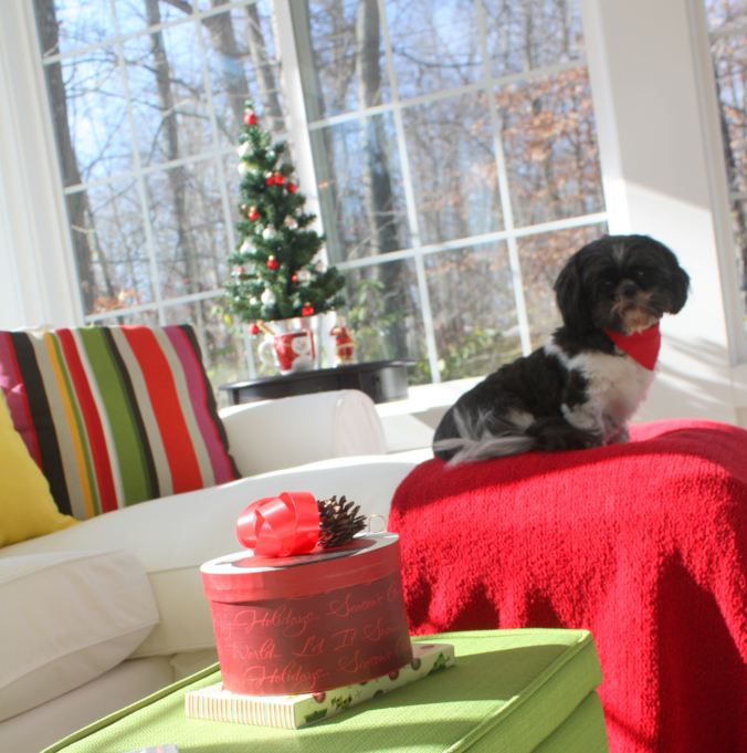
[{"label": "black furry head of the dog wearing a red bandana", "polygon": [[555,283],[564,324],[627,335],[676,314],[690,278],[663,243],[648,236],[606,236],[577,251]]}]

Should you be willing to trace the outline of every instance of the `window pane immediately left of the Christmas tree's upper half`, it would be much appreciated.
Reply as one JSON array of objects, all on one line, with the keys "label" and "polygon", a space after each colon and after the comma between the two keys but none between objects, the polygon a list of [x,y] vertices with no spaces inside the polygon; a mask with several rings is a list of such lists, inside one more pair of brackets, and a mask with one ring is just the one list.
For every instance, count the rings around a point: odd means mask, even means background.
[{"label": "window pane immediately left of the Christmas tree's upper half", "polygon": [[222,287],[228,239],[218,168],[212,160],[147,177],[161,295]]}]

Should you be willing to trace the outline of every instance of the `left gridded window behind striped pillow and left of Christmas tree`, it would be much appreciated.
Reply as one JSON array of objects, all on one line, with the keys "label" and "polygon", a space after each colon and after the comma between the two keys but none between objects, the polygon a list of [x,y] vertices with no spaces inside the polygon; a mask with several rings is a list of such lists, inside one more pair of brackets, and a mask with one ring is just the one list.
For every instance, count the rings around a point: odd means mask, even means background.
[{"label": "left gridded window behind striped pillow and left of Christmas tree", "polygon": [[241,375],[217,303],[250,92],[284,129],[270,0],[34,3],[86,321],[190,321]]}]

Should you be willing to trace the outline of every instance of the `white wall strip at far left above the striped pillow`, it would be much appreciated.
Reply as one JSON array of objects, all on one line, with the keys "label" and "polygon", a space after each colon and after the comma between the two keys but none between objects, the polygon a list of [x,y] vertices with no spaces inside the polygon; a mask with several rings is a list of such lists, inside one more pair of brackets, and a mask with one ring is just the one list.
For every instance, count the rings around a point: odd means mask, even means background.
[{"label": "white wall strip at far left above the striped pillow", "polygon": [[81,320],[31,2],[0,11],[0,327]]}]

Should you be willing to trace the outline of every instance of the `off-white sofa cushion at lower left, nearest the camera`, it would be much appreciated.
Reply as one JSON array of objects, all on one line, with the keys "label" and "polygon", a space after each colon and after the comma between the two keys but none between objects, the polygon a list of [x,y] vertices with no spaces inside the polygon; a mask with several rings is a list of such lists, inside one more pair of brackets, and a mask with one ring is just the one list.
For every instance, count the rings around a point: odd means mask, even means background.
[{"label": "off-white sofa cushion at lower left, nearest the camera", "polygon": [[124,552],[0,558],[0,720],[103,674],[158,623],[145,571]]}]

